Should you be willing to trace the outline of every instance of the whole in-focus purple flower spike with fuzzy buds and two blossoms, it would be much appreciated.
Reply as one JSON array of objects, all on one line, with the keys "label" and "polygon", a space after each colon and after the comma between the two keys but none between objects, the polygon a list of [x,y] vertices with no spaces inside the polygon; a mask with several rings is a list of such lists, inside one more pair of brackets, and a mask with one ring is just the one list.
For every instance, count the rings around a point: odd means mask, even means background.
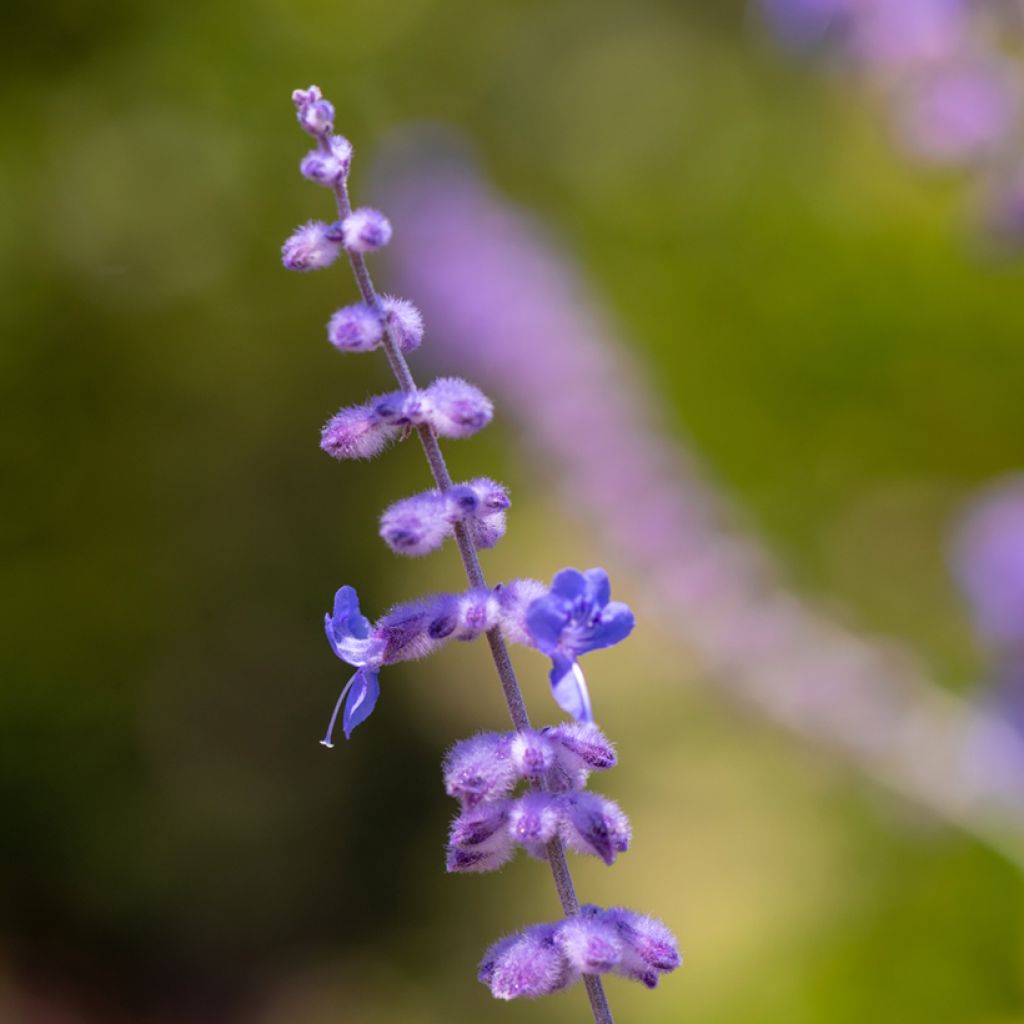
[{"label": "whole in-focus purple flower spike with fuzzy buds and two blossoms", "polygon": [[[500,943],[481,978],[496,995],[511,998],[554,991],[584,977],[595,1021],[610,1024],[598,975],[615,971],[651,985],[657,972],[679,963],[672,936],[650,919],[596,908],[581,915],[565,862],[566,847],[610,864],[629,846],[629,822],[617,805],[583,790],[590,772],[611,767],[615,755],[593,724],[579,659],[624,640],[633,630],[633,613],[611,601],[603,569],[564,569],[550,588],[532,580],[497,587],[484,583],[477,549],[492,547],[504,535],[508,494],[485,477],[455,484],[437,438],[471,436],[490,422],[493,407],[476,387],[458,378],[416,386],[406,353],[422,342],[423,318],[407,300],[377,294],[364,258],[388,244],[391,224],[378,210],[352,210],[347,185],[352,147],[334,134],[334,109],[319,89],[297,90],[293,100],[299,124],[317,142],[302,160],[301,173],[333,190],[338,218],[300,227],[285,243],[283,262],[289,269],[311,270],[347,254],[360,301],[331,316],[328,338],[343,352],[383,348],[399,385],[397,391],[338,412],[324,427],[321,446],[337,459],[370,458],[389,441],[416,433],[436,486],[388,508],[381,516],[381,537],[392,551],[406,555],[426,554],[454,538],[470,584],[464,593],[397,604],[372,625],[355,590],[338,590],[334,608],[325,616],[327,638],[355,673],[338,697],[322,743],[333,745],[339,714],[346,738],[370,717],[380,696],[382,667],[424,657],[450,640],[485,634],[515,731],[474,736],[449,755],[445,786],[462,812],[452,824],[447,866],[453,871],[489,870],[507,861],[516,845],[522,846],[551,863],[567,919],[527,930],[527,938]],[[551,658],[552,693],[574,722],[530,728],[506,640]],[[519,783],[526,788],[516,796]],[[520,984],[517,978],[536,973],[535,937],[542,933],[550,934],[557,946],[545,955],[549,965],[558,966],[558,984],[553,975],[545,984]],[[526,947],[517,951],[523,942]],[[505,980],[495,980],[499,978]]]}]

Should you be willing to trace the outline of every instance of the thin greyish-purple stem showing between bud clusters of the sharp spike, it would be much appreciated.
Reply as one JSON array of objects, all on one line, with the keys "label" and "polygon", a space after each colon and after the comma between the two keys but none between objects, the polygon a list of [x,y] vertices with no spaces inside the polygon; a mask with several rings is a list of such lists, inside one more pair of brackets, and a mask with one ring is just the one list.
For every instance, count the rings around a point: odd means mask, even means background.
[{"label": "thin greyish-purple stem showing between bud clusters of the sharp spike", "polygon": [[[319,140],[321,148],[330,152],[330,146],[326,138]],[[352,211],[348,199],[348,184],[342,178],[334,186],[334,195],[338,204],[338,217],[344,220]],[[374,283],[367,269],[367,261],[361,253],[349,252],[348,262],[351,264],[352,273],[355,275],[355,283],[358,285],[359,294],[362,301],[378,313],[384,321],[383,348],[387,355],[387,360],[394,374],[395,380],[402,391],[416,391],[416,381],[413,373],[409,369],[406,356],[397,338],[395,326],[390,317],[385,316],[384,307],[381,305],[380,296],[374,288]],[[430,465],[430,473],[437,484],[438,490],[444,492],[452,486],[452,474],[449,472],[444,456],[441,454],[440,444],[433,430],[423,424],[416,428],[423,445],[423,453],[427,457]],[[476,553],[476,546],[473,544],[469,531],[464,523],[456,523],[455,540],[459,546],[459,554],[462,556],[462,564],[466,569],[466,578],[471,587],[486,587],[483,578],[483,569],[480,567],[480,559]],[[526,703],[522,698],[522,690],[519,688],[519,681],[516,679],[515,669],[512,668],[512,658],[509,656],[508,645],[499,627],[488,630],[486,633],[487,645],[490,647],[490,656],[494,658],[495,668],[498,670],[498,678],[502,683],[502,692],[505,694],[505,703],[508,707],[512,724],[516,731],[521,732],[529,728],[529,716],[526,714]],[[562,911],[567,918],[580,913],[580,900],[577,898],[575,886],[572,884],[572,874],[569,871],[568,861],[565,859],[565,849],[560,839],[553,839],[547,846],[548,863],[551,865],[551,873],[555,880],[555,888],[558,890],[558,899],[562,904]],[[611,1017],[611,1010],[608,1007],[608,999],[604,994],[604,986],[601,979],[595,974],[585,974],[584,984],[587,988],[587,995],[590,998],[590,1008],[594,1014],[595,1024],[614,1024]]]}]

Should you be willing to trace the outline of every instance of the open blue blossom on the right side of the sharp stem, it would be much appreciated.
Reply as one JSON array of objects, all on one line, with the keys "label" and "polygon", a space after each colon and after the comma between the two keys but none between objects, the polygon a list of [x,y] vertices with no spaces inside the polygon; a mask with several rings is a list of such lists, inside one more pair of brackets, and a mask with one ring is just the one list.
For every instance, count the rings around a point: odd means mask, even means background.
[{"label": "open blue blossom on the right side of the sharp stem", "polygon": [[592,722],[581,654],[612,647],[633,631],[628,605],[612,601],[604,569],[562,569],[551,590],[530,604],[526,629],[538,650],[551,658],[551,691],[558,706],[580,722]]}]

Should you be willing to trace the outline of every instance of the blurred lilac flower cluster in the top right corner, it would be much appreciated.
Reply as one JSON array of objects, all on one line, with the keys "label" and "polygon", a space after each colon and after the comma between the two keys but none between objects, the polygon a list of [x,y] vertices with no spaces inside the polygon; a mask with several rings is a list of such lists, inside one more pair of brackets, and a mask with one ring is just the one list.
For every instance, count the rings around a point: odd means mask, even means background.
[{"label": "blurred lilac flower cluster in the top right corner", "polygon": [[967,0],[760,0],[760,6],[784,42],[825,45],[881,94],[894,137],[912,157],[976,168],[986,226],[1024,238],[1024,166],[1017,158],[1024,83],[1012,56],[1019,24],[1009,9]]}]

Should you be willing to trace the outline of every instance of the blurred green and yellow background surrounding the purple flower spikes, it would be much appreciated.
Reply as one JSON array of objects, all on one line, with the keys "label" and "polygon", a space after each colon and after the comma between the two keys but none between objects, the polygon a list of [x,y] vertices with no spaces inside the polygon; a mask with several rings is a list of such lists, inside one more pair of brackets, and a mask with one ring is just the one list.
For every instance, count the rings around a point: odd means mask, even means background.
[{"label": "blurred green and yellow background surrounding the purple flower spikes", "polygon": [[[333,98],[357,199],[411,122],[470,140],[794,585],[978,687],[946,549],[1024,461],[1024,264],[973,240],[962,179],[906,164],[870,96],[738,0],[0,16],[0,1020],[586,1014],[580,989],[503,1005],[474,980],[496,937],[555,915],[543,865],[443,871],[440,757],[504,726],[482,645],[388,671],[373,720],[316,742],[344,679],[334,590],[374,614],[460,579],[451,550],[399,563],[375,537],[426,485],[414,445],[317,449],[388,383],[324,343],[347,275],[280,266],[330,215],[296,173],[297,86]],[[492,578],[604,561],[501,409],[449,451],[513,489]],[[643,587],[615,575],[638,607]],[[579,888],[685,953],[657,992],[609,982],[621,1019],[1024,1020],[1019,868],[723,699],[670,639],[641,620],[588,672],[635,844],[613,870],[578,858]],[[544,720],[544,662],[517,664]]]}]

